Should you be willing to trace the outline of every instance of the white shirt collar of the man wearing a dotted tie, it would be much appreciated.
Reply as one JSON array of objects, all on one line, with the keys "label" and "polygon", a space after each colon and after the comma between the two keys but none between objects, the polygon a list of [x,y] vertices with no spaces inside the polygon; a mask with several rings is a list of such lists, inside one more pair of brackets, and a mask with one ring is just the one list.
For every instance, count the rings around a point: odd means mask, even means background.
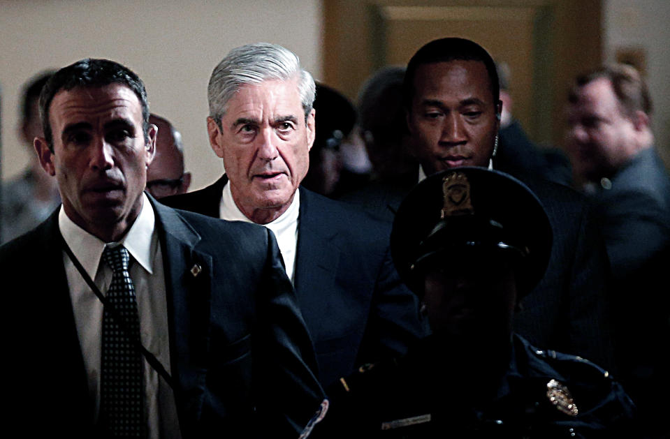
[{"label": "white shirt collar of the man wearing a dotted tie", "polygon": [[[146,194],[142,194],[142,209],[126,235],[119,241],[145,270],[153,273],[153,256],[158,240],[154,237],[156,217]],[[95,278],[106,244],[98,237],[76,225],[61,205],[58,227],[65,242],[91,278]]]}]

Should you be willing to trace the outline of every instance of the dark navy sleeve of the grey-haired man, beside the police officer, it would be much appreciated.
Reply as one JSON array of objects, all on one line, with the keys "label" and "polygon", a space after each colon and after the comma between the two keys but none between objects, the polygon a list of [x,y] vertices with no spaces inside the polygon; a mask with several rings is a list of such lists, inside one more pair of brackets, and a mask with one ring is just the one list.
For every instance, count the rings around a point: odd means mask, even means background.
[{"label": "dark navy sleeve of the grey-haired man, beside the police officer", "polygon": [[429,332],[418,312],[418,298],[402,283],[386,246],[357,363],[399,357]]}]

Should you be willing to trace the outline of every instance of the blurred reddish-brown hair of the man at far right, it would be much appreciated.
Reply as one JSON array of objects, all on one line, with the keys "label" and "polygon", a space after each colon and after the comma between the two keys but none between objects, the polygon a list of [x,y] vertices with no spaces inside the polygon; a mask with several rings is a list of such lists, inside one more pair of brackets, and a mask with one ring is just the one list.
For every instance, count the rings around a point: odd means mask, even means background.
[{"label": "blurred reddish-brown hair of the man at far right", "polygon": [[577,103],[578,91],[592,81],[605,78],[612,84],[614,94],[621,105],[622,112],[633,117],[636,111],[651,114],[653,105],[647,84],[640,73],[627,64],[613,64],[579,75],[568,95],[570,103]]}]

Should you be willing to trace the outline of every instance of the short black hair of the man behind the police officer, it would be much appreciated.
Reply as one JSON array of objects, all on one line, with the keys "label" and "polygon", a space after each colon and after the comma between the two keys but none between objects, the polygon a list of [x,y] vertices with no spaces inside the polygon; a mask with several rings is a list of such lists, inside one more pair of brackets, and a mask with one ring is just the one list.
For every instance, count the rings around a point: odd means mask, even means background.
[{"label": "short black hair of the man behind the police officer", "polygon": [[497,104],[497,101],[500,99],[500,84],[498,83],[495,63],[490,54],[481,45],[465,38],[440,38],[421,47],[407,64],[405,82],[402,84],[402,102],[408,111],[412,109],[416,69],[423,64],[447,61],[482,62],[488,72],[488,82],[491,94],[493,95],[493,104]]}]

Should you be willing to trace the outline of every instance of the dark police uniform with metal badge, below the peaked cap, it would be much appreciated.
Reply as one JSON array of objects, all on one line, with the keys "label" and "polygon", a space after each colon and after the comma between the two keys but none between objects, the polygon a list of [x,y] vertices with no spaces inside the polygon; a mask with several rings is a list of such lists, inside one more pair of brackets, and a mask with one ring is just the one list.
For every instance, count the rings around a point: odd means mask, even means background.
[{"label": "dark police uniform with metal badge, below the peaked cap", "polygon": [[466,401],[458,377],[443,377],[456,387],[437,385],[435,373],[446,371],[430,367],[434,348],[422,343],[403,359],[361,366],[328,389],[319,438],[636,437],[632,401],[587,360],[538,350],[515,334],[495,396]]}]

